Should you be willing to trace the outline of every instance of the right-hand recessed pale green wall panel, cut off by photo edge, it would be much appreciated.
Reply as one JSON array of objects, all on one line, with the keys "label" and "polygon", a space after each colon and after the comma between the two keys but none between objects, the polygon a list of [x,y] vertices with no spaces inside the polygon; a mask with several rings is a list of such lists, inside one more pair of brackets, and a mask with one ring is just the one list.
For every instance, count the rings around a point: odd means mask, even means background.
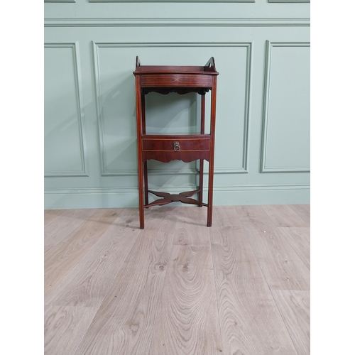
[{"label": "right-hand recessed pale green wall panel, cut off by photo edge", "polygon": [[262,173],[310,171],[310,45],[267,43]]}]

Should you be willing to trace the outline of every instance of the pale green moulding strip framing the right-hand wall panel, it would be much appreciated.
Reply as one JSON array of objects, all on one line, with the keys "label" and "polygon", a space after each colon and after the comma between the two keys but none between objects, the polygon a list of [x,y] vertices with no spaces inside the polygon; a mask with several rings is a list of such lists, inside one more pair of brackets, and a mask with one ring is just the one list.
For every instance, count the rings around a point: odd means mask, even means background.
[{"label": "pale green moulding strip framing the right-hand wall panel", "polygon": [[270,42],[266,41],[266,60],[263,96],[263,120],[261,126],[261,160],[260,173],[310,173],[310,167],[266,167],[267,142],[268,142],[268,102],[271,78],[271,50],[273,47],[310,47],[309,42]]}]

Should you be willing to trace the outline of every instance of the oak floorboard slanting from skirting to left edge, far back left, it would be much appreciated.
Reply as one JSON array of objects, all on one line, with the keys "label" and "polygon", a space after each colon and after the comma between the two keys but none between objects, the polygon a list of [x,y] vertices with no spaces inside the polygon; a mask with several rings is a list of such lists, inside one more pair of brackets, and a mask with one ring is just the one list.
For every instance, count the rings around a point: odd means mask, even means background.
[{"label": "oak floorboard slanting from skirting to left edge, far back left", "polygon": [[98,209],[70,209],[53,222],[45,226],[44,246],[55,246],[70,232],[84,223]]}]

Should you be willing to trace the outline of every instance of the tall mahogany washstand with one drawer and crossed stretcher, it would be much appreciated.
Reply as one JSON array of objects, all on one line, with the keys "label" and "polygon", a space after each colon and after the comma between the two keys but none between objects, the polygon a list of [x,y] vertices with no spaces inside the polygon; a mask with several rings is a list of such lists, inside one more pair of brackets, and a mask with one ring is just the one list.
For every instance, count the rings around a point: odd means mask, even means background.
[{"label": "tall mahogany washstand with one drawer and crossed stretcher", "polygon": [[[180,201],[187,204],[207,207],[207,226],[212,226],[213,197],[213,165],[214,165],[214,131],[216,126],[216,95],[217,75],[214,58],[204,66],[167,66],[141,65],[136,58],[136,118],[138,142],[138,191],[139,191],[139,222],[144,229],[144,208],[162,206],[170,202]],[[210,133],[204,133],[205,94],[211,90],[211,121]],[[197,92],[201,95],[201,132],[189,135],[151,135],[146,133],[145,95],[149,92],[168,94],[178,92],[186,94]],[[148,190],[147,160],[155,159],[163,163],[171,160],[182,160],[190,163],[200,160],[200,186],[198,190],[170,195],[167,192]],[[203,191],[203,160],[209,162],[208,201],[202,202]],[[163,197],[148,202],[148,192]],[[198,193],[198,200],[191,197]],[[143,203],[144,197],[144,203]]]}]

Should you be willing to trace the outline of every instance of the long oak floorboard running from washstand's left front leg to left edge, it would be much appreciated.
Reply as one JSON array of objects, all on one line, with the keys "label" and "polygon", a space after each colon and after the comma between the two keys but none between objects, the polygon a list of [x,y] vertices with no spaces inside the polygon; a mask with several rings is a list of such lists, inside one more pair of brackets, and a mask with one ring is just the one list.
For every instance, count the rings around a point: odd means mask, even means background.
[{"label": "long oak floorboard running from washstand's left front leg to left edge", "polygon": [[99,307],[140,233],[139,229],[123,226],[125,220],[135,215],[133,209],[125,209],[119,214],[45,303]]}]

